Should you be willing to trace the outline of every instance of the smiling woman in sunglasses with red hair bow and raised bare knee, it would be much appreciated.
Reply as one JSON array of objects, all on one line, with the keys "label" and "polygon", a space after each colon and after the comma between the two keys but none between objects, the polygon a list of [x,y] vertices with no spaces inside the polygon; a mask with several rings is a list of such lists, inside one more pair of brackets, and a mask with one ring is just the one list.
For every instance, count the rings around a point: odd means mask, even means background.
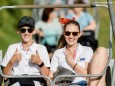
[{"label": "smiling woman in sunglasses with red hair bow and raised bare knee", "polygon": [[[64,32],[59,40],[58,49],[53,54],[49,77],[54,78],[55,72],[60,70],[58,69],[60,66],[71,70],[74,74],[101,73],[107,62],[106,49],[100,47],[93,55],[93,50],[90,47],[77,43],[81,32],[79,23],[75,21],[75,18],[72,20],[61,18],[59,22],[65,24]],[[89,64],[91,64],[90,68]],[[63,74],[66,75],[66,72],[68,71],[66,70]],[[99,80],[93,77],[90,78],[89,86],[97,86],[98,83]],[[69,84],[69,86],[71,85],[87,86],[87,79],[86,77],[75,77]],[[104,85],[101,84],[100,86]]]}]

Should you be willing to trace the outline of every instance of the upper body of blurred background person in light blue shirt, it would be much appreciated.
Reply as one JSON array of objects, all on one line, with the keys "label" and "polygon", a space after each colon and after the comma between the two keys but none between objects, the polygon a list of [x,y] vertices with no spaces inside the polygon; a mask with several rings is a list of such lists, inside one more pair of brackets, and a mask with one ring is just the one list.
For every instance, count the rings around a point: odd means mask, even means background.
[{"label": "upper body of blurred background person in light blue shirt", "polygon": [[[82,0],[76,0],[74,4],[85,4]],[[73,8],[73,13],[67,14],[67,18],[75,17],[76,21],[80,24],[80,30],[95,30],[96,22],[91,14],[85,8]]]}]

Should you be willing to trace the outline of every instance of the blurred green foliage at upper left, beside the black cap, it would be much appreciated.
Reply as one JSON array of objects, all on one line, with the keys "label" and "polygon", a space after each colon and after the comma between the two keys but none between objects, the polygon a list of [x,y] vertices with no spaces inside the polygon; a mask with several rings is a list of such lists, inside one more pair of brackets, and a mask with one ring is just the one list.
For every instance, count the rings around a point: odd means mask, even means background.
[{"label": "blurred green foliage at upper left, beside the black cap", "polygon": [[[29,5],[33,0],[0,0],[0,6]],[[20,17],[32,15],[32,9],[3,9],[0,10],[0,50],[6,52],[8,45],[18,42],[16,33],[17,23]]]}]

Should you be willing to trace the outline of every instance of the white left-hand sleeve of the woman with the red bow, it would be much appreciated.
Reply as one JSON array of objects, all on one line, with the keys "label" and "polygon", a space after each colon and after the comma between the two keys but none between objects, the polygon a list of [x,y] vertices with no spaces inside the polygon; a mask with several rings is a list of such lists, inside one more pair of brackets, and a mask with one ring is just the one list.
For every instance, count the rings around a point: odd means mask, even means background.
[{"label": "white left-hand sleeve of the woman with the red bow", "polygon": [[57,67],[58,67],[58,58],[56,57],[56,52],[54,52],[52,60],[51,60],[50,70],[54,73],[57,71]]}]

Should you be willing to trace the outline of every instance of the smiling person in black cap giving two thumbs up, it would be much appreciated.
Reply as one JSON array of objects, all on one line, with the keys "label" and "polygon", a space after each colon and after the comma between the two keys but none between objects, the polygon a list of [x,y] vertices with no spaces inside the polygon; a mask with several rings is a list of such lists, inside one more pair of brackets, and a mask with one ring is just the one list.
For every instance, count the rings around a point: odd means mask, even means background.
[{"label": "smiling person in black cap giving two thumbs up", "polygon": [[[45,75],[49,74],[50,61],[45,46],[32,39],[34,20],[24,16],[19,20],[18,30],[21,42],[12,44],[4,56],[2,66],[5,75]],[[42,78],[12,78],[9,86],[46,86]]]}]

